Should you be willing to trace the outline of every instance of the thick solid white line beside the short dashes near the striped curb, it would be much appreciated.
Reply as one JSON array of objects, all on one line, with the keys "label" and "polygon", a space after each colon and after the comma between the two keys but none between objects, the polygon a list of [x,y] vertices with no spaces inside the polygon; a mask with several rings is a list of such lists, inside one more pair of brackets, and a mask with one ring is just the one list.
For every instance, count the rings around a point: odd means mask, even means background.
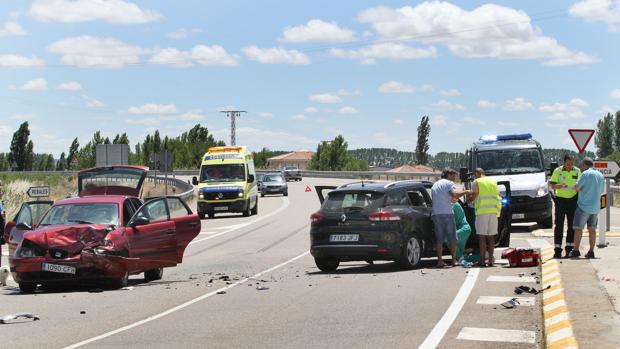
[{"label": "thick solid white line beside the short dashes near the striped curb", "polygon": [[452,304],[450,304],[448,310],[446,310],[439,322],[435,325],[435,327],[433,327],[431,333],[429,333],[418,349],[437,348],[443,337],[450,329],[450,326],[452,326],[452,323],[454,323],[454,320],[456,320],[456,317],[461,312],[461,309],[463,309],[463,305],[465,305],[467,298],[469,298],[471,290],[474,288],[474,285],[476,285],[478,274],[480,274],[479,268],[469,269],[469,273],[467,273],[465,281],[463,282],[463,285],[461,285],[456,297],[454,297]]}]

